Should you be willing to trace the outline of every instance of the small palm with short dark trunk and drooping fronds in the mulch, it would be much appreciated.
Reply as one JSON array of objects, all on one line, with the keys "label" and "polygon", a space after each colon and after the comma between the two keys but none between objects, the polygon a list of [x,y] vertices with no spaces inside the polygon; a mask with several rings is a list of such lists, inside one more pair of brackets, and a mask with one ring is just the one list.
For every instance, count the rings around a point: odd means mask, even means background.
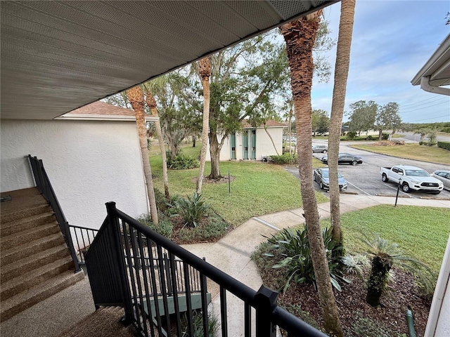
[{"label": "small palm with short dark trunk and drooping fronds in the mulch", "polygon": [[372,239],[364,237],[364,244],[368,246],[368,256],[371,258],[371,273],[367,282],[366,302],[373,307],[380,305],[380,297],[386,289],[389,271],[392,265],[398,265],[406,271],[413,272],[425,286],[427,291],[432,291],[434,284],[431,279],[432,271],[424,263],[416,258],[407,256],[397,244],[390,244],[386,239],[375,234]]}]

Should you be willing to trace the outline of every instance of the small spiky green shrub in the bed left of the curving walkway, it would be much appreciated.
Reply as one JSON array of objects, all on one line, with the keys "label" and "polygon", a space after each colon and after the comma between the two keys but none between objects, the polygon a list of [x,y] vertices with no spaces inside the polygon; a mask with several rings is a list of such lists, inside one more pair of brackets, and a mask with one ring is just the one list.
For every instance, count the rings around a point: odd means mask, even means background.
[{"label": "small spiky green shrub in the bed left of the curving walkway", "polygon": [[194,192],[192,198],[189,196],[186,196],[186,199],[179,197],[173,202],[179,216],[186,222],[185,225],[191,227],[197,227],[206,211],[210,209],[210,205],[205,203],[202,194],[197,192]]}]

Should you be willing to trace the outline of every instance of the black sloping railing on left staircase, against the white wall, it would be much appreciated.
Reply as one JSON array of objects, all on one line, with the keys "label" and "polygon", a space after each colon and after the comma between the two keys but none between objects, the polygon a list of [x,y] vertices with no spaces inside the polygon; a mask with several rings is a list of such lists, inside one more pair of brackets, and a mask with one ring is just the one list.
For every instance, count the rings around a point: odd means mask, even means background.
[{"label": "black sloping railing on left staircase, against the white wall", "polygon": [[30,154],[28,154],[28,159],[30,159],[30,165],[32,168],[32,173],[34,176],[36,187],[39,189],[44,198],[47,201],[49,201],[49,204],[53,209],[53,213],[55,213],[55,217],[56,220],[58,221],[60,230],[63,233],[65,243],[68,245],[70,256],[72,256],[72,260],[75,265],[75,272],[79,272],[81,271],[81,267],[79,265],[79,260],[77,258],[77,252],[75,251],[75,247],[72,242],[72,234],[70,233],[69,230],[69,223],[67,220],[65,220],[63,210],[61,209],[59,201],[56,198],[55,191],[51,186],[49,176],[47,176],[47,173],[44,169],[44,164],[42,164],[41,159],[37,159],[37,157],[32,157]]}]

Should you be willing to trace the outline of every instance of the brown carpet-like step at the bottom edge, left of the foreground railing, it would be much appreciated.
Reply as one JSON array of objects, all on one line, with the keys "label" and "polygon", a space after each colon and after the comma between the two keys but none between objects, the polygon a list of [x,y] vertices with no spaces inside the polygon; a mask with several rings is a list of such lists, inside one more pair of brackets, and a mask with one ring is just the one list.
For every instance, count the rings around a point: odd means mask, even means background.
[{"label": "brown carpet-like step at the bottom edge, left of the foreground railing", "polygon": [[[132,324],[124,326],[120,319],[124,315],[123,308],[120,307],[101,307],[88,317],[67,331],[61,333],[58,337],[133,337],[136,335],[136,329]],[[101,331],[101,332],[100,332]]]}]

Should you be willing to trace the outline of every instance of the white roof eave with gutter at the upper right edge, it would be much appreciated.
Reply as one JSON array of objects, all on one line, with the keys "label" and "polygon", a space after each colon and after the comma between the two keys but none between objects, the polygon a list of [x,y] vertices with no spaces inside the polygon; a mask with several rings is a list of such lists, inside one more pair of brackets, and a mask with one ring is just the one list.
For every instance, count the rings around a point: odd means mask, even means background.
[{"label": "white roof eave with gutter at the upper right edge", "polygon": [[444,88],[450,86],[450,34],[416,74],[411,84],[420,84],[420,88],[431,93],[450,95],[450,88]]}]

